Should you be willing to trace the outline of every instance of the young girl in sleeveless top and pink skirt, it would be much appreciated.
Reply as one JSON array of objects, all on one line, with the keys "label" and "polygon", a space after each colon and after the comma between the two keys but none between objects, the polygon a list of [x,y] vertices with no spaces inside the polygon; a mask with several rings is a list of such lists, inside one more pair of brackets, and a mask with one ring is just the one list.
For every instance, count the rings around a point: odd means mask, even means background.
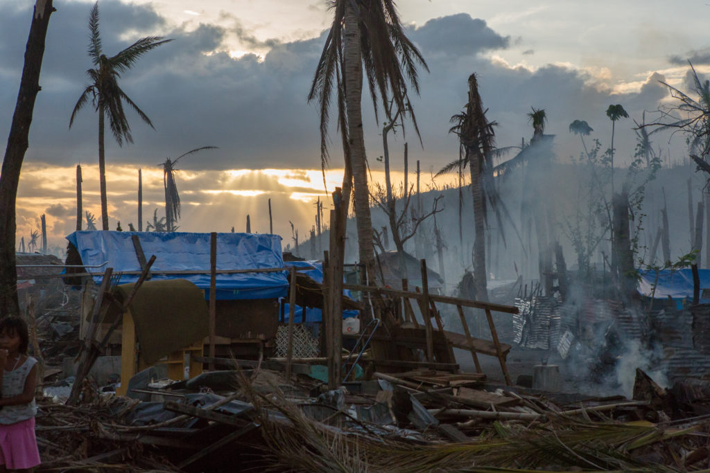
[{"label": "young girl in sleeveless top and pink skirt", "polygon": [[0,473],[29,472],[40,464],[35,438],[37,360],[27,356],[28,343],[25,321],[0,321]]}]

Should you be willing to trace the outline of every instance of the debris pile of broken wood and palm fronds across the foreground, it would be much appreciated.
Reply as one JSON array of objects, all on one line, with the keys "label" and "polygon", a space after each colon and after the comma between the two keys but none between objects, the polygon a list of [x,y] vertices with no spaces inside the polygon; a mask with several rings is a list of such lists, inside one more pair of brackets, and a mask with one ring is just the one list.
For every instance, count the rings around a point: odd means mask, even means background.
[{"label": "debris pile of broken wood and palm fronds across the foreground", "polygon": [[305,374],[238,368],[143,391],[151,401],[84,389],[76,407],[40,402],[42,468],[692,471],[708,462],[710,386],[665,390],[640,370],[633,400],[533,394],[430,369],[327,390]]}]

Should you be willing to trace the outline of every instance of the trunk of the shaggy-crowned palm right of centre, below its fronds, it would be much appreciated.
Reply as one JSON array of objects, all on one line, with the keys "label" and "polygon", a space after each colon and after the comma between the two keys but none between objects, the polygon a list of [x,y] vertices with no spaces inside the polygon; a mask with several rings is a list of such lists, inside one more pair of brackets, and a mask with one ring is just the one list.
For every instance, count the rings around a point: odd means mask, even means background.
[{"label": "trunk of the shaggy-crowned palm right of centre, below its fronds", "polygon": [[488,290],[486,289],[486,221],[484,187],[481,176],[481,165],[483,156],[477,150],[467,150],[469,159],[469,169],[471,169],[471,191],[474,197],[474,288],[476,289],[476,299],[488,301]]}]

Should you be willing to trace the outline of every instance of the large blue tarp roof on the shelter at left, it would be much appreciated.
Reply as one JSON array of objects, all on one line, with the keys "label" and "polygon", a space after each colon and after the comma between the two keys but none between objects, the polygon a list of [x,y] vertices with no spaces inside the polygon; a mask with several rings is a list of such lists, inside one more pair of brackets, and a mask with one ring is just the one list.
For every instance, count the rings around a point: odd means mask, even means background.
[{"label": "large blue tarp roof on the shelter at left", "polygon": [[[187,279],[209,299],[209,233],[80,231],[67,236],[84,265],[111,267],[115,272],[140,271],[132,235],[138,235],[146,260],[155,255],[153,272],[197,271],[202,274],[153,274],[155,279]],[[217,233],[217,269],[283,267],[281,237],[252,233]],[[101,277],[94,278],[97,282]],[[124,274],[121,284],[138,276]],[[286,272],[217,274],[217,299],[276,299],[288,293]]]}]

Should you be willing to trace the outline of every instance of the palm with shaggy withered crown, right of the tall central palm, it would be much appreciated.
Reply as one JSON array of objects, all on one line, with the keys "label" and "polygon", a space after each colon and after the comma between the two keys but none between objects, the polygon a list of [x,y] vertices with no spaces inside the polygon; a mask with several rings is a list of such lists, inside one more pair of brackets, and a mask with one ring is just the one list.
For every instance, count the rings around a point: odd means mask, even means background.
[{"label": "palm with shaggy withered crown, right of the tall central palm", "polygon": [[479,94],[476,74],[469,77],[469,101],[466,110],[452,116],[449,130],[459,137],[459,156],[465,158],[471,172],[474,197],[474,287],[476,299],[488,300],[486,289],[486,188],[485,181],[493,172],[493,139],[495,122],[489,122]]}]

